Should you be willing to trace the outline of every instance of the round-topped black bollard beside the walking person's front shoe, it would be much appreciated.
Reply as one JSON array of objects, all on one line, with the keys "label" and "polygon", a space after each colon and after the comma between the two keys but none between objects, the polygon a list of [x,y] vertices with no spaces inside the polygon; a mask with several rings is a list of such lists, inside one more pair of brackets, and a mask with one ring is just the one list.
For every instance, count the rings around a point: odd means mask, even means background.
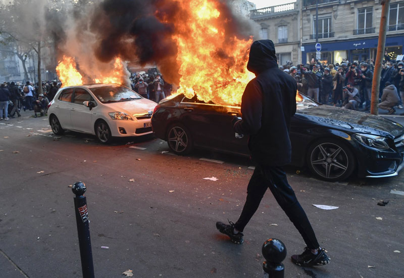
[{"label": "round-topped black bollard beside the walking person's front shoe", "polygon": [[262,255],[266,259],[263,264],[263,278],[283,278],[285,267],[282,261],[286,258],[286,247],[280,240],[269,239],[262,246]]}]

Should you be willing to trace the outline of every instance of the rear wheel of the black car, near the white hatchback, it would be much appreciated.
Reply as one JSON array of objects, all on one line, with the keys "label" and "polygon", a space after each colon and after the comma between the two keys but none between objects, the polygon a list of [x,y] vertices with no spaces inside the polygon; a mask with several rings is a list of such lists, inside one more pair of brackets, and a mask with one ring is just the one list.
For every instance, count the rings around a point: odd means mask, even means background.
[{"label": "rear wheel of the black car, near the white hatchback", "polygon": [[186,155],[192,151],[193,142],[188,129],[180,123],[169,127],[167,143],[171,151],[177,155]]}]

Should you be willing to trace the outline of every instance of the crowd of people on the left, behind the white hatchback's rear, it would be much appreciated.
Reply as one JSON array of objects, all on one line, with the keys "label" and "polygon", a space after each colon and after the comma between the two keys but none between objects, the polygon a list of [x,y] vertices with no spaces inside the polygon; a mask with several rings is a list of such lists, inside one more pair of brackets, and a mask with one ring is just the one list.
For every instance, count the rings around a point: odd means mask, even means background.
[{"label": "crowd of people on the left, behind the white hatchback's rear", "polygon": [[30,81],[25,84],[16,82],[4,82],[0,85],[0,120],[21,117],[21,109],[33,111],[41,116],[47,112],[47,106],[51,102],[58,89],[60,82],[41,82],[42,94],[39,94],[39,83],[35,85]]}]

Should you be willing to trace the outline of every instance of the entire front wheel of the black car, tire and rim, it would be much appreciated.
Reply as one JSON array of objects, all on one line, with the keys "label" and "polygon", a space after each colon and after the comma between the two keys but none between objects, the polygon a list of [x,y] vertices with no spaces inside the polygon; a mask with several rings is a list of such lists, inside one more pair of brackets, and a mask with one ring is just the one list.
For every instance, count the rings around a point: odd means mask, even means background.
[{"label": "entire front wheel of the black car, tire and rim", "polygon": [[310,146],[307,165],[315,175],[328,181],[344,180],[356,168],[349,147],[333,138],[320,139]]}]

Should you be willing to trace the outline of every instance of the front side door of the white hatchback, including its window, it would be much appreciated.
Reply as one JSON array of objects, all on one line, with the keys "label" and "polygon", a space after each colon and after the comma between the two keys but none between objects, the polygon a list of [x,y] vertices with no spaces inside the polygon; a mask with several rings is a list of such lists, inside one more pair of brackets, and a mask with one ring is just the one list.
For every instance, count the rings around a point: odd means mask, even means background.
[{"label": "front side door of the white hatchback, including its window", "polygon": [[75,88],[73,101],[70,109],[70,120],[72,129],[91,133],[93,130],[93,110],[84,106],[83,102],[94,102],[90,93],[84,88]]}]

